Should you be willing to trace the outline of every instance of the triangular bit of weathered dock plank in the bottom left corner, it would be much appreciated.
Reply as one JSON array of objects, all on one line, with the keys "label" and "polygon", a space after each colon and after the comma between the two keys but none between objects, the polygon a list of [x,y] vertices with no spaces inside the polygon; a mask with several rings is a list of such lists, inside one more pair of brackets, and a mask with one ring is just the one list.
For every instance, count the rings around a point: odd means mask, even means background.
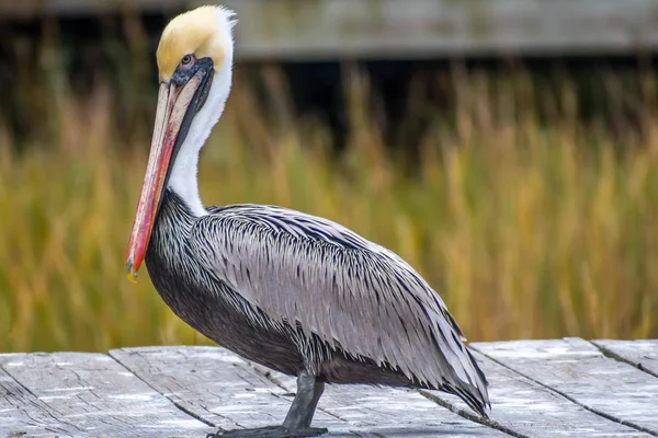
[{"label": "triangular bit of weathered dock plank in the bottom left corner", "polygon": [[72,437],[83,433],[52,415],[34,394],[0,368],[0,437]]}]

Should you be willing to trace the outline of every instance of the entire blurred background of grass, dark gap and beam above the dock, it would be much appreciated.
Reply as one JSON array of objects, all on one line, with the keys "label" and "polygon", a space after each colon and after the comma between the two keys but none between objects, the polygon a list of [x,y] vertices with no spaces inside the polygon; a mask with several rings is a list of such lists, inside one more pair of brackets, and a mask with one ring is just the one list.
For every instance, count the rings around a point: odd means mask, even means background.
[{"label": "entire blurred background of grass, dark gap and beam above the dock", "polygon": [[[0,351],[207,343],[124,257],[182,0],[0,0]],[[469,341],[658,337],[658,1],[226,0],[207,205],[390,247]]]}]

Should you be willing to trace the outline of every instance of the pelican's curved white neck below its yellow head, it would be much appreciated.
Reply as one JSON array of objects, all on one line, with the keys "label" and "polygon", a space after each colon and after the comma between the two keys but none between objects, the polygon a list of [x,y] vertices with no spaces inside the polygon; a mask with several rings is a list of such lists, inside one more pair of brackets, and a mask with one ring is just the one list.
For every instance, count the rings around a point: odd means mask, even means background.
[{"label": "pelican's curved white neck below its yellow head", "polygon": [[181,145],[181,149],[173,162],[171,174],[169,175],[168,187],[181,197],[194,216],[207,215],[207,210],[203,206],[201,196],[198,195],[198,183],[196,180],[198,153],[208,138],[213,126],[215,126],[224,112],[224,105],[230,92],[231,65],[231,59],[227,57],[222,68],[216,71],[208,97],[202,110],[192,120],[188,137],[183,145]]}]

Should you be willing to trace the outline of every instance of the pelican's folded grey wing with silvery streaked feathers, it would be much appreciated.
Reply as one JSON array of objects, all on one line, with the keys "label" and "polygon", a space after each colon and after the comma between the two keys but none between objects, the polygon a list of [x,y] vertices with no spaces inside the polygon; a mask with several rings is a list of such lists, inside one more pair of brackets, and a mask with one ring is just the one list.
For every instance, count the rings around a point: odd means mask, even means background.
[{"label": "pelican's folded grey wing with silvery streaked feathers", "polygon": [[486,379],[443,301],[393,252],[326,219],[269,206],[214,211],[190,239],[217,279],[307,338],[468,394],[461,396],[478,412],[488,404]]}]

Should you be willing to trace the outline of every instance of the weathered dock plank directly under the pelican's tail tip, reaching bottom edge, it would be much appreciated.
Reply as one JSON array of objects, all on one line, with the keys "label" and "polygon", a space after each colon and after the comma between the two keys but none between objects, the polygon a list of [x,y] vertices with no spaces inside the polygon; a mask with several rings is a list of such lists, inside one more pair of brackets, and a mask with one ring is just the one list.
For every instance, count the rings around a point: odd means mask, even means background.
[{"label": "weathered dock plank directly under the pelican's tail tip, reaching bottom edge", "polygon": [[[648,434],[612,422],[558,393],[474,353],[489,380],[491,420],[514,433],[542,437],[649,437]],[[462,400],[432,392],[460,413],[470,413]]]}]

